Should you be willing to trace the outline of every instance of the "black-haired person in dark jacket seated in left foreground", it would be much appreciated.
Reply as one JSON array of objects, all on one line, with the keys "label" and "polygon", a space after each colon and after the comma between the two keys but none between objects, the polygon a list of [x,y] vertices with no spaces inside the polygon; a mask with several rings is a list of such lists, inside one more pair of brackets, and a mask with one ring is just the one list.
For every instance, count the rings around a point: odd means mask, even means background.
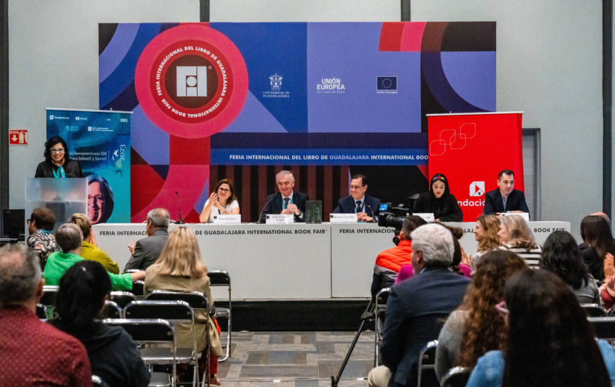
[{"label": "black-haired person in dark jacket seated in left foreground", "polygon": [[133,339],[123,328],[100,321],[110,292],[111,280],[100,263],[75,263],[60,279],[53,325],[84,344],[92,373],[109,387],[146,387],[149,371]]}]

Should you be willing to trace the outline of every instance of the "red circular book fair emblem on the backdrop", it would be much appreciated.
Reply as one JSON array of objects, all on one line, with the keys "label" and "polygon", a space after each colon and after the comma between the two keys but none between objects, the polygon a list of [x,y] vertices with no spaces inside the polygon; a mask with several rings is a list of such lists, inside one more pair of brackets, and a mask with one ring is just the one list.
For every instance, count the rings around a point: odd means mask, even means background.
[{"label": "red circular book fair emblem on the backdrop", "polygon": [[225,129],[247,96],[247,68],[222,33],[184,24],[155,37],[143,50],[135,90],[144,113],[160,129],[203,138]]}]

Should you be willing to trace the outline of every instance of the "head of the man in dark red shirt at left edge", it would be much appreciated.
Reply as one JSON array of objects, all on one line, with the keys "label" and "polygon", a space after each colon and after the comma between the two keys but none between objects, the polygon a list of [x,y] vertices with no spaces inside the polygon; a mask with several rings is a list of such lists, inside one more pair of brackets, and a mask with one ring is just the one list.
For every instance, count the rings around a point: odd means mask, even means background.
[{"label": "head of the man in dark red shirt at left edge", "polygon": [[0,308],[24,305],[42,292],[37,254],[23,245],[0,247]]}]

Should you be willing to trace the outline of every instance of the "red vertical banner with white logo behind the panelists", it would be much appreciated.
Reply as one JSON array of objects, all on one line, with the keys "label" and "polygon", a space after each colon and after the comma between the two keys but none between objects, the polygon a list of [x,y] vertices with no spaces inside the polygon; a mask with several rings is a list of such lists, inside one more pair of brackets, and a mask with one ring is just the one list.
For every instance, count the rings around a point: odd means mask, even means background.
[{"label": "red vertical banner with white logo behind the panelists", "polygon": [[464,211],[464,222],[482,214],[484,194],[511,169],[523,191],[521,112],[427,115],[429,176],[444,173]]}]

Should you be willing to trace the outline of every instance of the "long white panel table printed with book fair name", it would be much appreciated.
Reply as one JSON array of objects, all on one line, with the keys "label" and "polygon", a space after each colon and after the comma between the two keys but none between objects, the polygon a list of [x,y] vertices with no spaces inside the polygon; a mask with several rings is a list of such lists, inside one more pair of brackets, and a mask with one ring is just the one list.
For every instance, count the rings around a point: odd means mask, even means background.
[{"label": "long white panel table printed with book fair name", "polygon": [[[476,252],[474,222],[461,227],[460,245]],[[570,231],[569,222],[530,222],[538,244],[551,232]],[[173,229],[177,225],[170,225]],[[233,299],[332,299],[370,296],[376,256],[395,247],[390,227],[373,223],[306,225],[189,224],[196,233],[203,261],[210,270],[226,270]],[[124,268],[128,245],[145,238],[144,224],[93,226],[97,243]],[[213,289],[214,299],[228,296]]]}]

